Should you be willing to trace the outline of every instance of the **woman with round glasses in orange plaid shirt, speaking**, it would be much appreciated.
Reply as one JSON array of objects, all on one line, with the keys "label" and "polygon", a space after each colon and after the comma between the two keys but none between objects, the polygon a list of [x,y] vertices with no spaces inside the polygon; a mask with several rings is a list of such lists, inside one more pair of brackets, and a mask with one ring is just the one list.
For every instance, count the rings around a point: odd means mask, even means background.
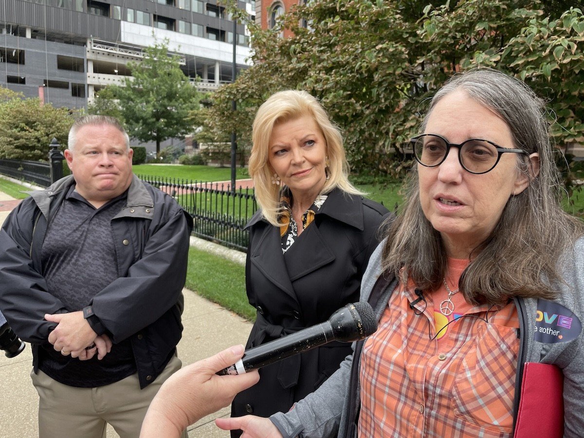
[{"label": "woman with round glasses in orange plaid shirt, speaking", "polygon": [[581,436],[583,225],[558,202],[543,103],[492,69],[455,75],[411,140],[402,211],[361,300],[378,329],[246,436]]}]

